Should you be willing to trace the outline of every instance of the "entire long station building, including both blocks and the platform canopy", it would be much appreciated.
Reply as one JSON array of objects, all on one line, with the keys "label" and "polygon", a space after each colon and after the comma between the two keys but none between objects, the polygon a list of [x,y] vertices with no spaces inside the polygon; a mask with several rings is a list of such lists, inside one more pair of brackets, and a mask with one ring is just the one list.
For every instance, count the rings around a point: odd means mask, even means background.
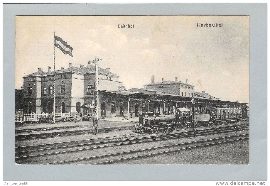
[{"label": "entire long station building, including both blocks and the platform canopy", "polygon": [[[207,92],[195,92],[194,86],[178,81],[155,82],[144,88],[126,90],[119,76],[99,67],[98,111],[100,117],[127,116],[131,111],[139,115],[142,111],[158,114],[173,114],[174,108],[192,108],[191,99],[196,99],[195,112],[207,113],[212,107],[241,108],[246,103],[222,101]],[[56,113],[93,113],[95,66],[88,64],[55,71]],[[25,113],[53,112],[53,72],[38,68],[37,72],[23,76],[23,105]]]}]

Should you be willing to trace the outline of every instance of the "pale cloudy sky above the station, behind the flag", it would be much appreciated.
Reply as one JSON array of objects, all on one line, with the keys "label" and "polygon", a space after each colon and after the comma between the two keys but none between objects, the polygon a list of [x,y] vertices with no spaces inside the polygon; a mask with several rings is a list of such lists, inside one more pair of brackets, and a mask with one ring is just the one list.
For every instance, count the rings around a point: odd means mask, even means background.
[{"label": "pale cloudy sky above the station, behind the flag", "polygon": [[126,89],[143,88],[152,75],[178,77],[196,92],[249,103],[249,16],[16,16],[16,89],[38,67],[53,69],[54,32],[73,48],[73,57],[55,48],[55,70],[97,57]]}]

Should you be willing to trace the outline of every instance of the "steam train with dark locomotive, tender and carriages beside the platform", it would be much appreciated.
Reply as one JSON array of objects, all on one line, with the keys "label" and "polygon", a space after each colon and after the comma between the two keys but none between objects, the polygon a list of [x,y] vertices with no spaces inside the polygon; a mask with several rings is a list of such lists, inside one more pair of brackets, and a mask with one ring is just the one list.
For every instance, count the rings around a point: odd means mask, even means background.
[{"label": "steam train with dark locomotive, tender and carriages beside the platform", "polygon": [[[242,120],[243,111],[239,108],[211,108],[209,111],[209,114],[195,113],[195,127]],[[193,126],[193,114],[190,109],[175,108],[175,113],[170,115],[153,115],[153,112],[144,113],[139,117],[139,122],[135,123],[135,130],[154,133],[156,131],[173,131],[176,128]]]}]

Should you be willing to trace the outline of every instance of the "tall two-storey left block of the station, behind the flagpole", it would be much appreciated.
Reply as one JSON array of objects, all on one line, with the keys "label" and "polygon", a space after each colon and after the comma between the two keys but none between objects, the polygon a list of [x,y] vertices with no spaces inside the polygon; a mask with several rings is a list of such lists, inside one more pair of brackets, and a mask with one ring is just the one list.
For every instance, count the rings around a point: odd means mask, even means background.
[{"label": "tall two-storey left block of the station, behind the flagpole", "polygon": [[[125,89],[119,76],[110,72],[109,68],[98,69],[99,89],[118,91]],[[82,105],[90,104],[94,97],[95,66],[80,65],[55,71],[55,111],[81,112]],[[26,113],[53,112],[53,72],[51,67],[44,72],[38,68],[37,72],[23,76],[24,110]]]}]

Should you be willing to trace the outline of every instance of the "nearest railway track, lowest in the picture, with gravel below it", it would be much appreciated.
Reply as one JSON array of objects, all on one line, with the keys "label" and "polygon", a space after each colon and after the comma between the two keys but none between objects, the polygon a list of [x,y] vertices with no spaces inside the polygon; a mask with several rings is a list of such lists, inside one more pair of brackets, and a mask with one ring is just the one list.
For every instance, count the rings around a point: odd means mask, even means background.
[{"label": "nearest railway track, lowest in the picture, with gravel below it", "polygon": [[[249,139],[249,134],[242,134],[242,135],[234,135],[234,136],[227,136],[222,138],[213,138],[208,140],[201,140],[201,141],[194,141],[194,142],[187,142],[187,143],[178,143],[173,145],[167,146],[159,146],[153,148],[145,148],[139,149],[134,151],[125,151],[120,153],[111,153],[111,154],[104,154],[104,155],[97,155],[92,157],[85,157],[85,158],[77,158],[72,160],[65,160],[65,161],[57,161],[52,163],[46,164],[70,164],[75,162],[85,163],[85,164],[111,164],[111,163],[119,163],[125,160],[130,159],[139,159],[164,153],[172,153],[176,151],[184,151],[190,150],[199,147],[208,147],[214,146],[217,144],[222,143],[232,143],[235,141],[242,141]],[[146,153],[148,152],[148,153]],[[134,155],[136,154],[136,155]]]}]

